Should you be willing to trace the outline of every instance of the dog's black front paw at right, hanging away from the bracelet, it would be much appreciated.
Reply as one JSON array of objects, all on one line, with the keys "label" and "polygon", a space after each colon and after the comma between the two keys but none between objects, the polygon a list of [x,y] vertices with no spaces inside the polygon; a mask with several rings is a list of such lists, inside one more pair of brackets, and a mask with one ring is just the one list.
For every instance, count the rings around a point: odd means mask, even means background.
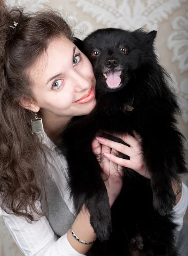
[{"label": "dog's black front paw at right, hanging away from the bracelet", "polygon": [[175,204],[176,196],[172,189],[170,191],[160,189],[157,192],[153,192],[153,207],[160,215],[165,216],[169,214]]}]

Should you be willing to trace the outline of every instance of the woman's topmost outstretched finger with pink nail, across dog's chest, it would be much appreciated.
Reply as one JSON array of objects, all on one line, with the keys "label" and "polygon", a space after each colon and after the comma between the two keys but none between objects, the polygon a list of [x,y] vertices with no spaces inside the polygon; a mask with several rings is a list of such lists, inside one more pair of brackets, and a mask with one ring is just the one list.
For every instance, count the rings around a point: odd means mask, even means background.
[{"label": "woman's topmost outstretched finger with pink nail, across dog's chest", "polygon": [[[102,137],[96,137],[96,139],[101,144],[103,144],[105,146],[113,148],[114,150],[119,151],[122,154],[126,154],[129,157],[131,156],[132,150],[130,149],[130,147],[128,147],[128,146],[126,146],[124,144],[121,144],[121,143],[118,143],[118,142],[115,142],[115,141],[112,141],[112,140],[104,139]],[[107,153],[107,152],[104,152],[104,153]]]}]

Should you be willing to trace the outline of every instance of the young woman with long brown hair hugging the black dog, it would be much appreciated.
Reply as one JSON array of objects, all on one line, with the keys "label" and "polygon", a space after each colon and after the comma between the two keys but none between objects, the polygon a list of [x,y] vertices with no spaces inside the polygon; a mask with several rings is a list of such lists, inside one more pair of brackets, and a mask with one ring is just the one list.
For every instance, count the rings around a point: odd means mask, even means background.
[{"label": "young woman with long brown hair hugging the black dog", "polygon": [[[66,160],[55,151],[69,119],[95,106],[92,65],[72,36],[61,14],[52,9],[26,13],[0,6],[0,214],[27,256],[85,255],[96,239],[87,209],[83,206],[75,214]],[[42,134],[32,134],[35,115],[42,118]],[[110,207],[122,185],[117,168],[121,172],[121,166],[127,166],[149,178],[139,137],[121,139],[130,148],[98,137],[92,144],[95,153],[105,156],[98,161],[110,175],[104,177]],[[130,160],[116,157],[116,150]],[[174,207],[178,231],[187,205],[183,184]],[[86,243],[78,242],[70,228]]]}]

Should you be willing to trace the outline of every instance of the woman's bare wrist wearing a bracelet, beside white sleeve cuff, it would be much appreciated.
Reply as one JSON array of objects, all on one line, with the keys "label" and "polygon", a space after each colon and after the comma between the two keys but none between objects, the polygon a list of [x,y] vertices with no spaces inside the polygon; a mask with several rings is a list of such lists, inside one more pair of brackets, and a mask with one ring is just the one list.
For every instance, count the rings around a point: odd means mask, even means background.
[{"label": "woman's bare wrist wearing a bracelet, beside white sleeve cuff", "polygon": [[[78,216],[75,218],[72,224],[72,230],[75,235],[83,241],[90,242],[95,240],[97,237],[90,224],[90,213],[85,207],[79,212]],[[67,239],[70,245],[81,254],[86,254],[93,244],[82,244],[78,242],[74,236],[72,236],[70,230],[67,232]]]}]

